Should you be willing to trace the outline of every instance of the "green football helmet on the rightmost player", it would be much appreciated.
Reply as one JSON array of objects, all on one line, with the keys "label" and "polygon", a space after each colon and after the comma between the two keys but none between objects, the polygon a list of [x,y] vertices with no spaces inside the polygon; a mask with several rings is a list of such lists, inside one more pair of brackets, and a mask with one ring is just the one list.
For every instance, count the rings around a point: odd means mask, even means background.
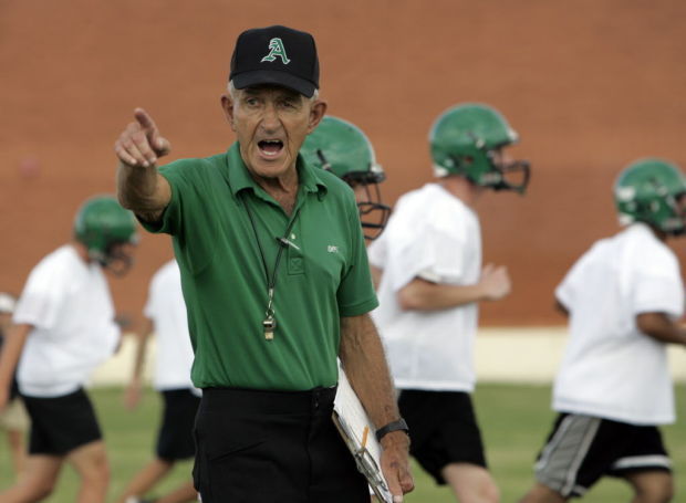
[{"label": "green football helmet on the rightmost player", "polygon": [[630,164],[614,184],[622,224],[645,222],[669,235],[686,231],[686,211],[679,201],[685,195],[686,178],[679,167],[657,158]]}]

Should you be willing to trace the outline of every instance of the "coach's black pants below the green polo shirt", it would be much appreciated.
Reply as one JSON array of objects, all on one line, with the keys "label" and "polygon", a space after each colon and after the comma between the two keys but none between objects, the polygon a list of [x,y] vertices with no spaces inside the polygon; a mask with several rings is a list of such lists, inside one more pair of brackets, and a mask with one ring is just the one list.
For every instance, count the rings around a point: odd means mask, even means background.
[{"label": "coach's black pants below the green polo shirt", "polygon": [[196,417],[204,503],[368,503],[365,479],[331,412],[335,388],[209,388]]}]

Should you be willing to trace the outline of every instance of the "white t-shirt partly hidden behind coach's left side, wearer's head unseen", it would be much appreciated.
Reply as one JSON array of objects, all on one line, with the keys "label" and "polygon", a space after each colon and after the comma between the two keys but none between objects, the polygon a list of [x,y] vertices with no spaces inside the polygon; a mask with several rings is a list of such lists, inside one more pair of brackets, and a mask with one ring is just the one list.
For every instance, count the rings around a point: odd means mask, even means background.
[{"label": "white t-shirt partly hidden behind coach's left side, wearer's head unseen", "polygon": [[157,361],[154,385],[157,390],[193,388],[193,347],[188,335],[181,273],[175,260],[163,265],[150,281],[144,314],[155,325]]}]

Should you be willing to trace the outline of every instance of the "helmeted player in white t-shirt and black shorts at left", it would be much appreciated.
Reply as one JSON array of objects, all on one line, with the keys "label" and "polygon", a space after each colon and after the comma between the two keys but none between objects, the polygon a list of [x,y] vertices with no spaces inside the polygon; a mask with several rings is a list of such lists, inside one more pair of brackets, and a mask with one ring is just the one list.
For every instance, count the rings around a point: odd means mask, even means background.
[{"label": "helmeted player in white t-shirt and black shorts at left", "polygon": [[23,476],[0,501],[43,500],[64,462],[81,481],[77,503],[105,501],[107,457],[84,384],[119,342],[103,269],[126,272],[135,242],[133,213],[112,197],[95,197],[76,213],[74,239],[31,271],[0,357],[0,409],[19,363],[31,418],[29,457]]}]

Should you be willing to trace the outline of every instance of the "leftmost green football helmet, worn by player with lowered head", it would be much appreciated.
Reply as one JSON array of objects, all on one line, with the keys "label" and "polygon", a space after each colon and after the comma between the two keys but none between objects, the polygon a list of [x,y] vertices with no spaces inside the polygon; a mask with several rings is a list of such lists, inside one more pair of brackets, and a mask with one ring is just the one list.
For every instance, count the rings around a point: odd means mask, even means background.
[{"label": "leftmost green football helmet, worn by player with lowered head", "polygon": [[85,245],[89,259],[116,274],[125,273],[133,263],[118,244],[137,242],[134,214],[111,196],[87,199],[74,218],[74,238]]}]

